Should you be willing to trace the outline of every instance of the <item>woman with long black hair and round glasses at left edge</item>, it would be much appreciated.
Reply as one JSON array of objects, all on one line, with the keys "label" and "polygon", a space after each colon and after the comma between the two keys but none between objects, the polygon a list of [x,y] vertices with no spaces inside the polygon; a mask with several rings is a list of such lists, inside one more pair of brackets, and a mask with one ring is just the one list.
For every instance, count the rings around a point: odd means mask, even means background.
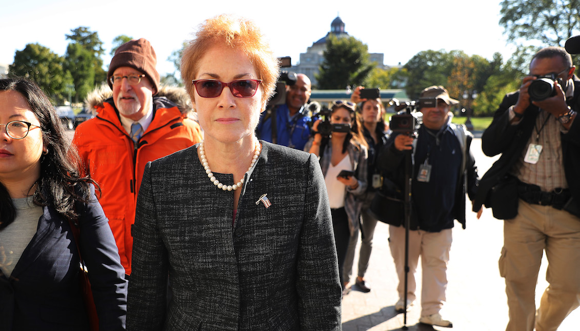
[{"label": "woman with long black hair and round glasses at left edge", "polygon": [[2,331],[89,330],[79,251],[100,330],[125,329],[125,271],[94,183],[78,166],[44,92],[21,78],[0,80]]}]

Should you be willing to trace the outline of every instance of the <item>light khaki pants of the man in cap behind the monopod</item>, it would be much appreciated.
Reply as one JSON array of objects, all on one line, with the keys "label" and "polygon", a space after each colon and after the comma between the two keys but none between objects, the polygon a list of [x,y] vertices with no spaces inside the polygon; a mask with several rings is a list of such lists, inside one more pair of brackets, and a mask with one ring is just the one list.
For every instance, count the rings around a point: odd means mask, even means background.
[{"label": "light khaki pants of the man in cap behind the monopod", "polygon": [[[403,298],[405,293],[405,228],[389,225],[389,235],[389,246],[399,279],[397,291],[399,297]],[[409,231],[407,299],[415,300],[416,298],[415,271],[420,256],[423,271],[421,316],[435,314],[443,308],[451,242],[451,229],[441,232]]]}]

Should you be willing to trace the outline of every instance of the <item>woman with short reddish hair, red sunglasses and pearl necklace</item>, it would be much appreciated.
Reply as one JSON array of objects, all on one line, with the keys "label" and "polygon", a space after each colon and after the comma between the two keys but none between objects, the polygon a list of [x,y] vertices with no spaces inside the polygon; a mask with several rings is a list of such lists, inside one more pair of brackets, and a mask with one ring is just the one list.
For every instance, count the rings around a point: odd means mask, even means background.
[{"label": "woman with short reddish hair, red sunglasses and pearl necklace", "polygon": [[340,330],[318,161],[255,136],[278,76],[262,33],[233,16],[206,20],[181,71],[205,138],[146,166],[127,329]]}]

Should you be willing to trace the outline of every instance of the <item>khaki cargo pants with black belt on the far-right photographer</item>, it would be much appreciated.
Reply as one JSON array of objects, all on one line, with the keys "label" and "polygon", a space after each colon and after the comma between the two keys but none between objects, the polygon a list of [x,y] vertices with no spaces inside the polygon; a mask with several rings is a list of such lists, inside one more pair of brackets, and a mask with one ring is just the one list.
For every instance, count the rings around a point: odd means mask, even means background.
[{"label": "khaki cargo pants with black belt on the far-right photographer", "polygon": [[[506,331],[556,330],[580,304],[580,219],[520,200],[516,218],[504,223],[503,237],[499,272],[506,280]],[[544,250],[549,286],[536,315],[535,289]]]}]

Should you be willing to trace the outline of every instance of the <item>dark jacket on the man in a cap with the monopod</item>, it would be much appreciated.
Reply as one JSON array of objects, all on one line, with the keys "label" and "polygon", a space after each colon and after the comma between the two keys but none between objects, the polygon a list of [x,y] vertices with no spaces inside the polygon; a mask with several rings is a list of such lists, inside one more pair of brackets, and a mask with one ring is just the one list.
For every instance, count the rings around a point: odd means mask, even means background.
[{"label": "dark jacket on the man in a cap with the monopod", "polygon": [[[458,136],[460,132],[463,132],[463,134],[461,134],[462,136]],[[385,180],[383,182],[383,188],[379,192],[379,197],[376,197],[378,201],[376,203],[374,202],[371,211],[376,215],[378,220],[398,226],[404,224],[403,192],[406,153],[400,152],[394,147],[394,138],[396,136],[397,134],[391,135],[387,145],[383,146],[382,150],[379,152],[377,167],[382,171]],[[438,167],[439,169],[433,168],[432,170],[430,184],[433,185],[428,186],[432,191],[421,193],[437,195],[437,197],[443,197],[443,200],[447,200],[435,205],[429,203],[422,204],[421,202],[426,202],[426,199],[423,199],[422,201],[414,200],[411,213],[412,230],[424,229],[429,232],[439,232],[443,229],[452,228],[453,220],[460,222],[462,227],[465,229],[465,194],[467,193],[472,200],[476,196],[478,175],[475,166],[475,159],[470,151],[473,136],[465,130],[463,125],[452,123],[445,125],[445,128],[443,128],[437,136],[437,139],[441,139],[440,146],[443,149],[440,150],[439,147],[437,147],[436,150],[432,150],[432,153],[440,154],[437,157],[438,164],[433,164],[433,167]],[[421,125],[417,145],[419,147],[425,147],[424,143],[431,139],[435,138],[427,132],[427,129],[423,125]],[[456,149],[455,147],[459,146],[461,146],[462,150],[459,152],[461,153],[461,157],[463,157],[462,161],[458,160],[457,157],[454,158],[453,154],[451,154],[453,149]],[[416,189],[424,186],[418,185],[416,182],[416,174],[425,159],[424,151],[419,154],[422,155],[419,155],[418,159],[415,161],[412,192],[416,192]],[[445,159],[446,155],[448,156],[447,159]],[[455,159],[455,164],[445,164],[452,159]],[[441,173],[440,170],[445,167],[453,167],[456,169],[456,172],[451,174],[453,177],[438,178],[436,174]],[[450,184],[452,185],[451,188],[443,187],[444,185]],[[389,185],[393,187],[387,188]],[[394,191],[397,191],[394,195],[397,201],[390,199],[393,197],[392,193]],[[445,196],[441,196],[442,194],[445,194]],[[425,196],[424,194],[421,195],[423,197]],[[437,214],[438,216],[433,217],[434,214]]]}]

